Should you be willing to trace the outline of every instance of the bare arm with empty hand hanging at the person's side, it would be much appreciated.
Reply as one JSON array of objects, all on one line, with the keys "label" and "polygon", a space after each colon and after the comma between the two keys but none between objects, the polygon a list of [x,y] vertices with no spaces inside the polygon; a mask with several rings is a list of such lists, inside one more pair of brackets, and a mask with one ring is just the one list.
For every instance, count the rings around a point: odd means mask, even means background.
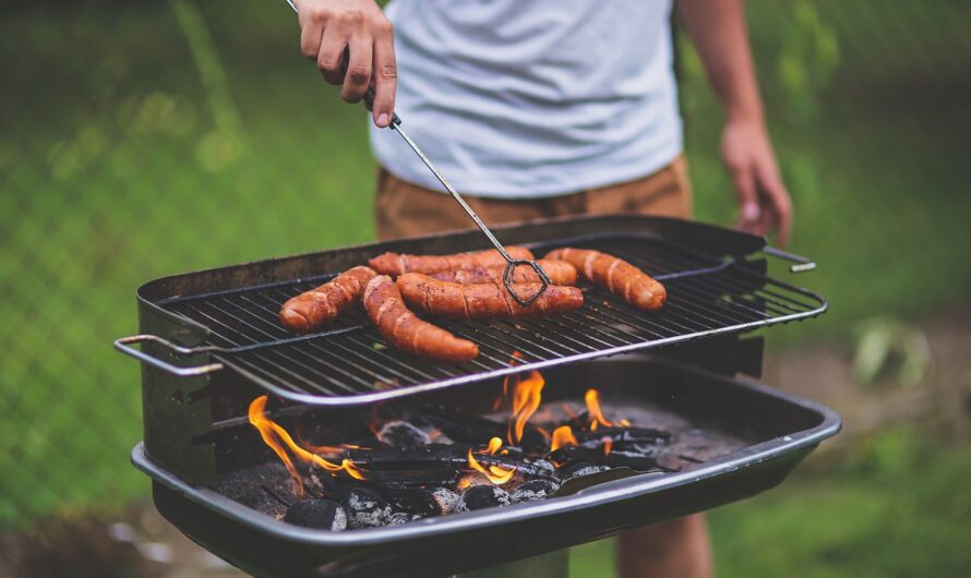
[{"label": "bare arm with empty hand hanging at the person's side", "polygon": [[789,240],[792,204],[763,118],[743,0],[679,0],[679,12],[724,107],[721,156],[739,196],[739,226]]}]

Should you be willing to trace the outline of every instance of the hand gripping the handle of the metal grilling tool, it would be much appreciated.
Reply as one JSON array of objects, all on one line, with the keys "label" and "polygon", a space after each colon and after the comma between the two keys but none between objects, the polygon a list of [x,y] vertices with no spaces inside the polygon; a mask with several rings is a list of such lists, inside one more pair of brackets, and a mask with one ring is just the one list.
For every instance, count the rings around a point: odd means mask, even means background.
[{"label": "hand gripping the handle of the metal grilling tool", "polygon": [[[385,128],[395,110],[397,67],[391,22],[374,0],[295,0],[300,22],[300,50],[316,61],[340,97],[358,103],[374,84],[374,123]],[[347,49],[347,74],[340,61]]]}]

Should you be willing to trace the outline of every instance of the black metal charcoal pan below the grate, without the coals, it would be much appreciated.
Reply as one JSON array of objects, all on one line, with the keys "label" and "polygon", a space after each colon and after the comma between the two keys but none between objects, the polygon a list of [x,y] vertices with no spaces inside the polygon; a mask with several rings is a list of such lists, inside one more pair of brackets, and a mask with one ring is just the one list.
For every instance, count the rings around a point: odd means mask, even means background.
[{"label": "black metal charcoal pan below the grate, without the coals", "polygon": [[[658,407],[711,435],[744,447],[675,473],[646,473],[586,487],[574,495],[405,526],[331,533],[283,523],[199,484],[146,455],[136,467],[153,478],[158,510],[190,538],[256,576],[446,576],[598,540],[648,523],[752,496],[781,482],[816,445],[837,433],[839,418],[811,401],[764,386],[646,357],[611,359],[546,372],[544,399],[577,399],[598,384],[604,399]],[[431,394],[469,409],[491,404],[498,383]],[[427,397],[427,396],[425,396]],[[422,396],[389,401],[405,406]],[[361,422],[361,409],[314,409],[327,423]],[[348,414],[348,412],[350,414]],[[309,417],[304,416],[304,419]],[[367,420],[364,420],[367,422]],[[249,428],[224,428],[219,454],[261,444]],[[265,459],[275,459],[266,456]],[[230,469],[248,463],[223,456]]]}]

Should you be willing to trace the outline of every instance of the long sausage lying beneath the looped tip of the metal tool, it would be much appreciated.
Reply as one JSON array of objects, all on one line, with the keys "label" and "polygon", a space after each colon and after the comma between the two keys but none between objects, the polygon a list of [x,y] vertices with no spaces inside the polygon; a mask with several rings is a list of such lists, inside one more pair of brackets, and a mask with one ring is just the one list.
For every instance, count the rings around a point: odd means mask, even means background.
[{"label": "long sausage lying beneath the looped tip of the metal tool", "polygon": [[[482,320],[559,315],[584,304],[584,293],[576,287],[551,285],[528,306],[523,306],[502,284],[461,285],[440,281],[420,273],[398,277],[405,302],[417,311],[443,317]],[[516,294],[526,299],[540,290],[538,282],[515,284]]]}]

